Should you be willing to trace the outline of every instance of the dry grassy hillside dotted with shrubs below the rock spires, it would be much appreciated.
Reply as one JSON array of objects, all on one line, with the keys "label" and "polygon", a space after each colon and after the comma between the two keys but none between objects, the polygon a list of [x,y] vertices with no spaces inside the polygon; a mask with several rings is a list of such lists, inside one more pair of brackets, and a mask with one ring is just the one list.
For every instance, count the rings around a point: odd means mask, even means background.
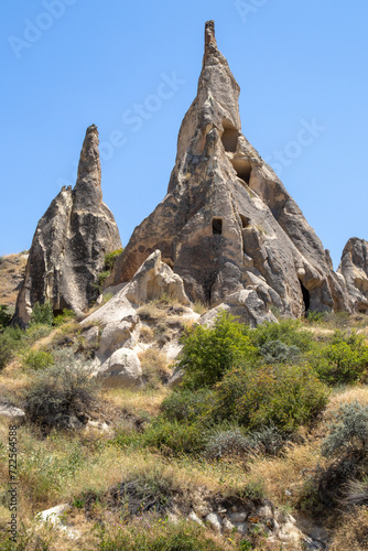
[{"label": "dry grassy hillside dotted with shrubs below the rock spires", "polygon": [[[320,549],[367,549],[367,317],[313,314],[249,329],[221,316],[206,329],[176,316],[185,376],[171,389],[175,365],[160,355],[173,332],[165,302],[142,306],[140,390],[95,385],[96,345],[69,313],[2,332],[1,402],[28,421],[17,430],[19,539],[0,549],[317,549],[296,542],[293,526]],[[62,528],[36,519],[63,504]]]}]

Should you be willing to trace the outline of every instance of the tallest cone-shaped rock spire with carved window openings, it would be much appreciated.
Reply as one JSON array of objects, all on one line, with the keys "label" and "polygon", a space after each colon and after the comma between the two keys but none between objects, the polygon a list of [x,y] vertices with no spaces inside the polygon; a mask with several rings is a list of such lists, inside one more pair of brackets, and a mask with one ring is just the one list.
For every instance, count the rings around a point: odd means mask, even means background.
[{"label": "tallest cone-shaped rock spire with carved window openings", "polygon": [[167,194],[134,229],[107,284],[130,281],[160,249],[192,301],[216,306],[246,289],[267,311],[349,310],[328,252],[242,136],[238,97],[209,21],[197,97],[180,130]]}]

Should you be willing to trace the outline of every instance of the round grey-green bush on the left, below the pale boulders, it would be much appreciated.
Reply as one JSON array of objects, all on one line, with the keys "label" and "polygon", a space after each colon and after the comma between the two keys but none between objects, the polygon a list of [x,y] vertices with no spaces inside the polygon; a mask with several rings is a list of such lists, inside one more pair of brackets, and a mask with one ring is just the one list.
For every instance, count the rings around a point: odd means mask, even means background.
[{"label": "round grey-green bush on the left, below the pale boulders", "polygon": [[74,428],[87,420],[97,393],[91,366],[71,349],[54,354],[55,365],[44,369],[25,396],[25,410],[42,426]]}]

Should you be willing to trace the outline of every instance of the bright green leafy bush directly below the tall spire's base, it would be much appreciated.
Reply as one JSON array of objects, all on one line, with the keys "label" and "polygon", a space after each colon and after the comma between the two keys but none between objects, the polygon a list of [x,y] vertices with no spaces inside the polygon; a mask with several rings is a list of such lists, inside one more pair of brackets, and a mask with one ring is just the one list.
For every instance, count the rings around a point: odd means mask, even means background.
[{"label": "bright green leafy bush directly below the tall spire's base", "polygon": [[234,365],[255,361],[259,356],[246,327],[221,312],[212,328],[202,325],[187,329],[178,366],[185,370],[184,386],[213,385]]}]

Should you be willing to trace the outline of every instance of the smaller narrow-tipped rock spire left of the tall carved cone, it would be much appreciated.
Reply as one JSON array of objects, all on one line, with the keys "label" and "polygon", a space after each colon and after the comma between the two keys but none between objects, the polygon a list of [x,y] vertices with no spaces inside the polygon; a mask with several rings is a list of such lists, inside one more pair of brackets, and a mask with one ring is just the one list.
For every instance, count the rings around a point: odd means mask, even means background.
[{"label": "smaller narrow-tipped rock spire left of the tall carved cone", "polygon": [[102,203],[101,169],[96,126],[87,129],[77,182],[63,187],[35,230],[19,292],[15,321],[25,325],[32,306],[51,301],[54,312],[86,311],[96,299],[94,283],[105,255],[121,241],[113,216]]}]

